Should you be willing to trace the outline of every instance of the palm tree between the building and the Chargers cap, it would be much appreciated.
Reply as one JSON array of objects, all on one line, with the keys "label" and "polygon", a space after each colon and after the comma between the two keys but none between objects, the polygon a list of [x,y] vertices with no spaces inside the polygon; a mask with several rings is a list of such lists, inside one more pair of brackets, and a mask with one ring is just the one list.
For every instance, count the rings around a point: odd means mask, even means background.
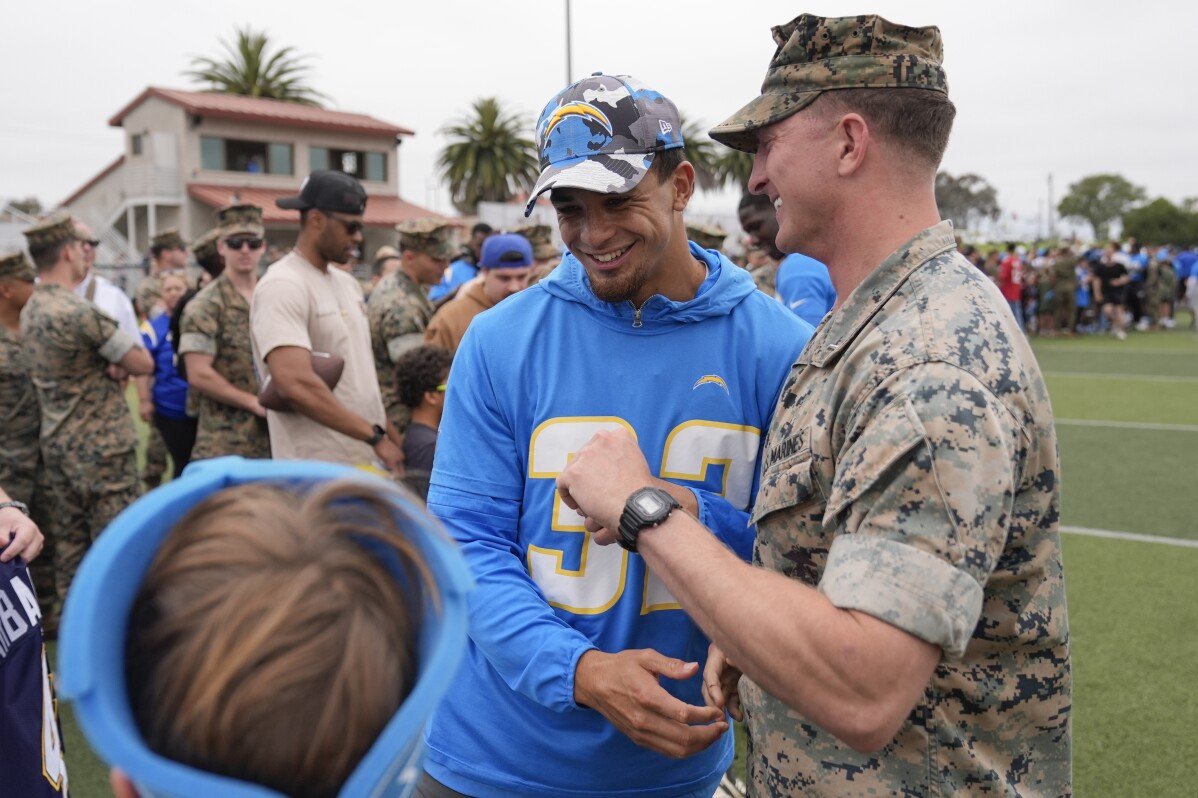
[{"label": "palm tree between the building and the Chargers cap", "polygon": [[476,99],[471,113],[441,128],[449,144],[437,167],[454,207],[473,213],[479,202],[507,202],[537,182],[537,145],[525,119],[496,97]]}]

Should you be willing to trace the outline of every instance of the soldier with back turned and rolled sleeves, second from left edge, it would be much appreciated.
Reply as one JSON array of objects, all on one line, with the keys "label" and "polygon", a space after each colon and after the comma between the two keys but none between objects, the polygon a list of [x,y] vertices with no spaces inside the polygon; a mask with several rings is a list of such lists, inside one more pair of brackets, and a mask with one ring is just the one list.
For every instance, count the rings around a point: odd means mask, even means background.
[{"label": "soldier with back turned and rolled sleeves, second from left edge", "polygon": [[61,600],[87,546],[140,492],[133,419],[109,367],[145,375],[153,361],[111,316],[72,291],[84,256],[69,216],[49,217],[25,238],[38,285],[20,313],[20,345],[41,407]]}]

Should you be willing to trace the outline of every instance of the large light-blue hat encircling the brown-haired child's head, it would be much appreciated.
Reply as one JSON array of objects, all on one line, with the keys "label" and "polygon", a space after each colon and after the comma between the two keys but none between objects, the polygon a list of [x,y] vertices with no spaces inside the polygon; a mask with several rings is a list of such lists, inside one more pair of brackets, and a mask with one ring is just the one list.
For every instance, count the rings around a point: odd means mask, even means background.
[{"label": "large light-blue hat encircling the brown-haired child's head", "polygon": [[[246,483],[303,488],[329,479],[364,482],[388,495],[395,520],[423,555],[436,582],[425,590],[416,684],[341,786],[344,798],[406,798],[419,781],[424,726],[449,687],[466,648],[465,560],[435,520],[393,484],[328,463],[246,460],[194,463],[183,474],[131,504],[92,544],[67,596],[60,633],[59,694],[74,705],[92,748],[123,770],[146,798],[280,798],[262,785],[206,773],[155,754],[137,726],[125,685],[129,613],[141,582],[175,524],[211,494]],[[380,552],[381,554],[381,552]],[[398,561],[380,556],[397,579]]]}]

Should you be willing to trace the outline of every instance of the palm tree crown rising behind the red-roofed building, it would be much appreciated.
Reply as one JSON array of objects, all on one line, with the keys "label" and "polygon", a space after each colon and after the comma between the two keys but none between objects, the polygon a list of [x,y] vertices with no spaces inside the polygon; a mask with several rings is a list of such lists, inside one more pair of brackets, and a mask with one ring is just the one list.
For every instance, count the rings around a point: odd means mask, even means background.
[{"label": "palm tree crown rising behind the red-roofed building", "polygon": [[210,91],[247,97],[284,99],[304,105],[321,104],[327,97],[308,85],[308,66],[294,47],[270,52],[265,32],[252,28],[237,29],[234,42],[220,40],[224,55],[219,59],[195,56],[189,78],[208,84]]}]

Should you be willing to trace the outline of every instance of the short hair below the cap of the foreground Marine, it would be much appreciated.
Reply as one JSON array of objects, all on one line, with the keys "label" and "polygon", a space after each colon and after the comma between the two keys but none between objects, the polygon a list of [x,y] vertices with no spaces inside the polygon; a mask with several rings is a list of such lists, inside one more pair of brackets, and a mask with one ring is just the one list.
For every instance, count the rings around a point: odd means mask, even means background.
[{"label": "short hair below the cap of the foreground Marine", "polygon": [[936,171],[949,145],[956,105],[942,91],[927,89],[837,89],[816,98],[812,108],[853,111]]}]

